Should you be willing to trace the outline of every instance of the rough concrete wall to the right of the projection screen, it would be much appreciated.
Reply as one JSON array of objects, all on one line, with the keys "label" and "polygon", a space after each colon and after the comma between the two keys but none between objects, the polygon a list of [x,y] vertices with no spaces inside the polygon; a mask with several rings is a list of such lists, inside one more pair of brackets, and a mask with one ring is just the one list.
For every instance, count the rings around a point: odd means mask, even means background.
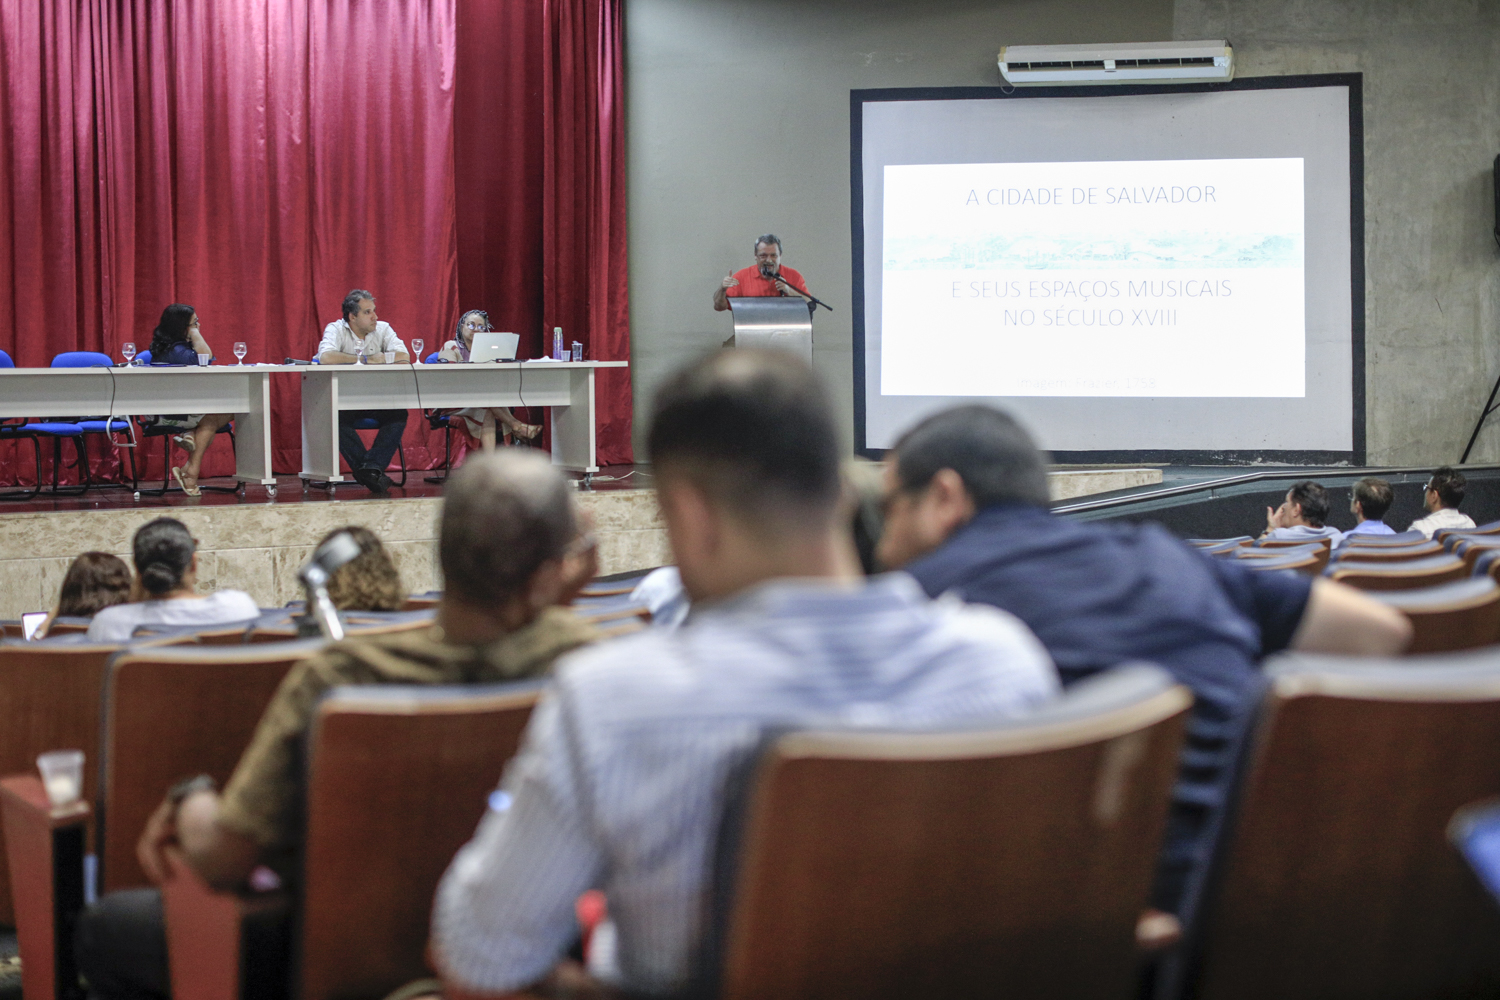
[{"label": "rough concrete wall to the right of the projection screen", "polygon": [[[1456,462],[1500,372],[1500,3],[1176,0],[1174,21],[1227,37],[1240,76],[1365,75],[1370,463]],[[1470,460],[1500,460],[1496,423]]]}]

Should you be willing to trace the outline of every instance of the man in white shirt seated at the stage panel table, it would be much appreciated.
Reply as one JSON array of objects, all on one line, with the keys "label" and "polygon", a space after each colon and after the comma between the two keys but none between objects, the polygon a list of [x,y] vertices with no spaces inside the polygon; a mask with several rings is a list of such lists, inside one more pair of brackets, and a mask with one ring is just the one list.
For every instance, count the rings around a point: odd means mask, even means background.
[{"label": "man in white shirt seated at the stage panel table", "polygon": [[[344,319],[322,328],[318,361],[322,364],[406,364],[411,355],[388,322],[375,315],[375,297],[356,288],[344,297]],[[369,451],[354,429],[362,420],[375,420],[375,444]],[[372,493],[386,493],[392,480],[386,475],[390,457],[396,454],[400,435],[406,430],[405,409],[344,409],[339,412],[339,454],[350,463],[354,478]]]}]

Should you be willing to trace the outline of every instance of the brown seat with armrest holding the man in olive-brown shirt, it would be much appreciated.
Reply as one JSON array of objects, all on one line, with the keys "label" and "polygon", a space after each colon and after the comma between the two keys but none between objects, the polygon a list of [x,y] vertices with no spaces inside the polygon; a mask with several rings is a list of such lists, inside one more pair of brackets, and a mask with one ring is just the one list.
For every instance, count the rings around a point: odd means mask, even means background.
[{"label": "brown seat with armrest holding the man in olive-brown shirt", "polygon": [[[520,682],[330,693],[308,741],[298,898],[213,892],[174,858],[164,891],[172,1000],[378,1000],[430,976],[424,951],[438,880],[474,835],[540,690]],[[300,910],[290,919],[290,981],[285,955],[258,951],[248,933],[264,927],[267,910],[284,924]]]}]

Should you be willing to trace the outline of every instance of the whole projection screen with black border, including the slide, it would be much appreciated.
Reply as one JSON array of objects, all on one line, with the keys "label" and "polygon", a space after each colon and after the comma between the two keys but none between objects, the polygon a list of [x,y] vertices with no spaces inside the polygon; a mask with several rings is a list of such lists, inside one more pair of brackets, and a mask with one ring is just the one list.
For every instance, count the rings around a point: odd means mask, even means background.
[{"label": "whole projection screen with black border, including the slide", "polygon": [[1364,463],[1360,78],[850,93],[855,433]]}]

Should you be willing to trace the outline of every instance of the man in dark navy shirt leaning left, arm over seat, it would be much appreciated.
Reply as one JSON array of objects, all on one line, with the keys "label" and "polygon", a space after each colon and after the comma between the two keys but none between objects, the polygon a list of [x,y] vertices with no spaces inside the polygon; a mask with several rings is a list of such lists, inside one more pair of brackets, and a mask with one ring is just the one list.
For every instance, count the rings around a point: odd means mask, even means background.
[{"label": "man in dark navy shirt leaning left, arm over seat", "polygon": [[[1128,660],[1192,688],[1182,768],[1152,903],[1180,913],[1202,873],[1278,649],[1392,654],[1410,625],[1330,580],[1203,556],[1160,525],[1090,525],[1048,510],[1030,436],[988,406],[928,417],[888,454],[878,555],[930,595],[952,592],[1026,622],[1064,684]],[[1186,916],[1186,913],[1184,913]]]}]

